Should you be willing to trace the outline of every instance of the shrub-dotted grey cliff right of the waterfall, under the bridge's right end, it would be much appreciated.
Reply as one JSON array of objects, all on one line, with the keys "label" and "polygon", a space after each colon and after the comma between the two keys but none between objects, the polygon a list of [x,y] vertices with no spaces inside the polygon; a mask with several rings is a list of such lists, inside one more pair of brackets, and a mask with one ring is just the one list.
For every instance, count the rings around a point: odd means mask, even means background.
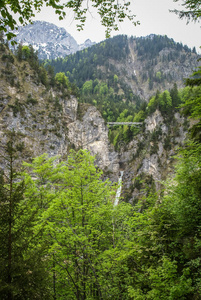
[{"label": "shrub-dotted grey cliff right of the waterfall, under the bridge's right end", "polygon": [[[165,119],[156,110],[145,120],[145,129],[131,141],[119,159],[124,170],[123,189],[127,201],[135,203],[147,189],[158,190],[174,172],[174,155],[186,138],[188,121],[175,113]],[[148,188],[148,189],[149,189]]]}]

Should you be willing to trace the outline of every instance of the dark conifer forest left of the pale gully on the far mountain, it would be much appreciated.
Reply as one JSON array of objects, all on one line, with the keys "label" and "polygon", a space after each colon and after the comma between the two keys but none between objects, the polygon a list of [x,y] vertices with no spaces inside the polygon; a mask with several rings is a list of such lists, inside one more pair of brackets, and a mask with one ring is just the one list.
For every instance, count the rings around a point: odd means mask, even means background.
[{"label": "dark conifer forest left of the pale gully on the far mountain", "polygon": [[[105,65],[108,68],[108,58],[121,61],[126,57],[129,51],[127,39],[127,36],[115,36],[112,39],[93,45],[87,49],[87,52],[82,50],[63,59],[47,60],[46,65],[53,66],[56,73],[65,72],[67,74],[68,72],[67,76],[70,82],[75,82],[81,88],[85,81],[105,77],[100,69],[97,70],[97,66]],[[113,76],[110,81],[114,82]]]}]

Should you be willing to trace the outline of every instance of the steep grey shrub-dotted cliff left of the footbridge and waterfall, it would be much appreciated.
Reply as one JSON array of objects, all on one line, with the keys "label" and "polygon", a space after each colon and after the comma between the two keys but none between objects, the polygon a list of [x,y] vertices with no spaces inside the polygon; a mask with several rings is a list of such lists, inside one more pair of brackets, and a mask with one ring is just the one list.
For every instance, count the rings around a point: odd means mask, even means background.
[{"label": "steep grey shrub-dotted cliff left of the footbridge and waterfall", "polygon": [[[71,148],[89,149],[102,169],[118,171],[108,128],[95,107],[78,104],[66,89],[47,88],[25,60],[0,45],[0,137],[14,130],[26,156],[44,152],[65,159]],[[24,157],[26,158],[26,157]]]}]

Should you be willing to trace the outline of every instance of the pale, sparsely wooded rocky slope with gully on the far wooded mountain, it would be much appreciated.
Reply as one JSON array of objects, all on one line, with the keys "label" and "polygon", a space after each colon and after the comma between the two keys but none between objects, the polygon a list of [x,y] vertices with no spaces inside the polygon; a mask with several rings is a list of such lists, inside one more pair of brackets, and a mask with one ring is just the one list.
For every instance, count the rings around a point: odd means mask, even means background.
[{"label": "pale, sparsely wooded rocky slope with gully on the far wooded mountain", "polygon": [[[144,39],[151,40],[153,36],[150,35]],[[122,62],[111,60],[110,64],[133,93],[146,101],[157,90],[164,91],[172,88],[173,82],[177,83],[178,88],[182,88],[184,79],[188,78],[200,65],[198,61],[200,56],[186,52],[185,49],[177,51],[174,48],[164,48],[154,58],[146,56],[149,54],[149,49],[147,49],[147,53],[141,56],[137,46],[139,40],[140,38],[130,38],[126,59]]]}]

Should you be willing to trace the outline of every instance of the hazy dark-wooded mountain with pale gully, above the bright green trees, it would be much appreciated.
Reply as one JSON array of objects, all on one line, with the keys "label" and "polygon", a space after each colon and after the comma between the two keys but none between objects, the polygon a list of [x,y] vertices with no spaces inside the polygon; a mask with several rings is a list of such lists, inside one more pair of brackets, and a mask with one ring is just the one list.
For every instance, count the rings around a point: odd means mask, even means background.
[{"label": "hazy dark-wooded mountain with pale gully, above the bright green trees", "polygon": [[199,65],[199,57],[195,50],[167,36],[115,36],[87,51],[49,60],[48,63],[56,73],[65,72],[79,88],[96,78],[114,88],[116,75],[115,90],[122,99],[129,99],[132,93],[148,101],[157,90],[169,90],[174,83],[178,88],[183,87],[184,78]]}]

